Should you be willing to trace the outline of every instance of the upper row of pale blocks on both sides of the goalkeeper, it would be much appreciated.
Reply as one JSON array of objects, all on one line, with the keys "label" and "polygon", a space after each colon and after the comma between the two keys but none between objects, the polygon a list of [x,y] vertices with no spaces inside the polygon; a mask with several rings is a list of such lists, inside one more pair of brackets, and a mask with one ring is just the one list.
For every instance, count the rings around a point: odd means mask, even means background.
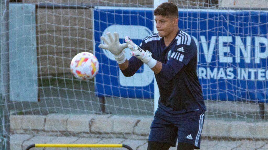
[{"label": "upper row of pale blocks on both sides of the goalkeeper", "polygon": [[[10,129],[12,133],[25,134],[75,133],[76,136],[79,136],[79,133],[83,133],[84,136],[110,134],[117,137],[146,139],[150,133],[152,119],[153,117],[115,115],[11,115]],[[268,138],[266,131],[268,131],[266,121],[252,123],[205,119],[202,136],[266,139]]]}]

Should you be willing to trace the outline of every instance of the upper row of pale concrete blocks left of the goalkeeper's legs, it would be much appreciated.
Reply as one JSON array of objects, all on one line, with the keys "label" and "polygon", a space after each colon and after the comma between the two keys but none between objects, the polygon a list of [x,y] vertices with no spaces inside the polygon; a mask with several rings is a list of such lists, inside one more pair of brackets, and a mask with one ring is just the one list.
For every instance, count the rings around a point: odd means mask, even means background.
[{"label": "upper row of pale concrete blocks left of the goalkeeper's legs", "polygon": [[[118,137],[141,139],[148,136],[152,117],[123,117],[112,115],[11,115],[10,129],[13,133],[50,134],[84,133],[97,136],[107,133]],[[120,135],[121,134],[121,135]]]}]

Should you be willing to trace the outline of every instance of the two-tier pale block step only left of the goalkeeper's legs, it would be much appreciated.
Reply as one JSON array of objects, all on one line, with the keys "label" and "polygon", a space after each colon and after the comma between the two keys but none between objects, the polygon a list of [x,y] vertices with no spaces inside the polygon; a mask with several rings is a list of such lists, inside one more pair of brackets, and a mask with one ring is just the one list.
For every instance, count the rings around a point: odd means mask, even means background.
[{"label": "two-tier pale block step only left of the goalkeeper's legs", "polygon": [[[147,143],[149,132],[141,131],[143,129],[150,131],[151,122],[152,117],[62,114],[11,115],[11,150],[25,149],[35,143],[124,143],[137,149]],[[66,150],[67,148],[46,149]],[[119,148],[98,149],[114,150]]]}]

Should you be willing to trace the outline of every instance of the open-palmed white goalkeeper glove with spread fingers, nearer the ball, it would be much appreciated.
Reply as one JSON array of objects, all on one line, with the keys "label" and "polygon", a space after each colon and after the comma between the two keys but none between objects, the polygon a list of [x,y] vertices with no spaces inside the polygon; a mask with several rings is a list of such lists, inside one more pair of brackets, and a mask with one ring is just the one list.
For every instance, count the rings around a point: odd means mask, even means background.
[{"label": "open-palmed white goalkeeper glove with spread fingers, nearer the ball", "polygon": [[114,54],[114,58],[116,59],[117,63],[122,64],[126,60],[123,50],[128,47],[128,44],[120,44],[117,32],[114,32],[114,38],[110,32],[107,33],[107,36],[109,40],[107,40],[104,36],[101,37],[105,44],[100,44],[99,48],[109,50],[112,54]]}]

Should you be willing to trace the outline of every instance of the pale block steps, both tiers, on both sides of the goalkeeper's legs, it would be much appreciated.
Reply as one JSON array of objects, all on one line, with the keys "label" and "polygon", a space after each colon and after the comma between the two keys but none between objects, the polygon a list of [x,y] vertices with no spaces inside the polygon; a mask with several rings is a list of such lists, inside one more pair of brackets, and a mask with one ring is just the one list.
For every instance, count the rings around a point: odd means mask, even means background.
[{"label": "pale block steps, both tiers, on both sides of the goalkeeper's legs", "polygon": [[[11,150],[24,150],[35,143],[126,144],[135,150],[146,150],[152,120],[152,116],[11,115]],[[251,147],[265,148],[268,147],[266,131],[268,131],[266,121],[249,123],[205,119],[201,135],[202,149],[226,149],[226,147],[243,149],[249,147],[252,141],[254,145]],[[224,141],[224,139],[228,140]],[[66,148],[46,149],[66,150]],[[87,149],[94,150],[94,148]],[[119,150],[120,148],[98,149]],[[170,149],[175,150],[176,147]]]}]

